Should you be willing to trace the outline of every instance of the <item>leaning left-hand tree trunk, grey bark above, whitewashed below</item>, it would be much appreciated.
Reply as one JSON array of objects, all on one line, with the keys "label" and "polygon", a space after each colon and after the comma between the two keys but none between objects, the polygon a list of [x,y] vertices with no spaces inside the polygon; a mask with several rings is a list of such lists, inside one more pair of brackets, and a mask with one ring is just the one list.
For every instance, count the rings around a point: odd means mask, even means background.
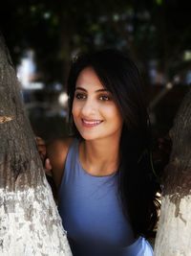
[{"label": "leaning left-hand tree trunk, grey bark above, whitewashed below", "polygon": [[0,255],[72,255],[1,35]]}]

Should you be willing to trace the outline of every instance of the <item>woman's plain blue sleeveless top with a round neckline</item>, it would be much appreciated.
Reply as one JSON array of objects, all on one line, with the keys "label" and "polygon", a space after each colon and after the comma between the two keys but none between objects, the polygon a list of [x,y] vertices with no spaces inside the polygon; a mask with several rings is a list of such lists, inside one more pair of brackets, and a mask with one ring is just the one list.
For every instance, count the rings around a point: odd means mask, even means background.
[{"label": "woman's plain blue sleeveless top with a round neckline", "polygon": [[[94,176],[83,170],[74,139],[59,189],[58,210],[75,256],[152,256],[123,216],[117,175]],[[147,254],[145,254],[147,253]]]}]

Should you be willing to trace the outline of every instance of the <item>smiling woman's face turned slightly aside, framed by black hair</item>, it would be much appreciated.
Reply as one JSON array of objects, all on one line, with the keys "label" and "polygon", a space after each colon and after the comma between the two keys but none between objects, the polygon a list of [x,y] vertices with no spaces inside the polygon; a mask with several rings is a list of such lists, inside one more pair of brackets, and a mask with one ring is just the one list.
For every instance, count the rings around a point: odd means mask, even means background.
[{"label": "smiling woman's face turned slightly aside, framed by black hair", "polygon": [[77,78],[72,113],[75,127],[85,140],[120,137],[122,117],[112,94],[91,67],[83,69]]}]

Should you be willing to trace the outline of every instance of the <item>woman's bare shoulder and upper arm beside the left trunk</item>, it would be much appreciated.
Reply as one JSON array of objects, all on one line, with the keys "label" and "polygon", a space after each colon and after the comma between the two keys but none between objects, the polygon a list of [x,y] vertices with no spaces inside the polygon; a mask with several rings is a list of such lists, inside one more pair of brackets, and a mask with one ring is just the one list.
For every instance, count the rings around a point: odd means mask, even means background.
[{"label": "woman's bare shoulder and upper arm beside the left trunk", "polygon": [[61,183],[67,153],[74,141],[74,137],[56,139],[47,145],[47,156],[53,168],[53,179],[57,187]]}]

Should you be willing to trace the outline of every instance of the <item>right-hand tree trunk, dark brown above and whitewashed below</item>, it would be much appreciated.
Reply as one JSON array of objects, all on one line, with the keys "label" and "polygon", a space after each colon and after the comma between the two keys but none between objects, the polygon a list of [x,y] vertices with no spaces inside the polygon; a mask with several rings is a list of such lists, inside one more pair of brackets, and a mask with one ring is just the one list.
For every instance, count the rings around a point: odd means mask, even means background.
[{"label": "right-hand tree trunk, dark brown above and whitewashed below", "polygon": [[165,169],[156,256],[191,255],[191,90],[174,127],[170,161]]}]

